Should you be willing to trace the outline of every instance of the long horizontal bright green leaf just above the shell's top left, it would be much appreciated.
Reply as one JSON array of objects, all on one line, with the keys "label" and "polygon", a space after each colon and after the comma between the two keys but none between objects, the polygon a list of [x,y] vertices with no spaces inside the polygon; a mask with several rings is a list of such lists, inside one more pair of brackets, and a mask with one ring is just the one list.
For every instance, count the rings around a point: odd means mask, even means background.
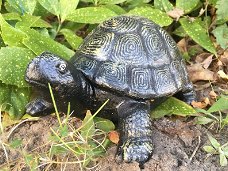
[{"label": "long horizontal bright green leaf just above the shell's top left", "polygon": [[105,7],[86,7],[76,9],[66,19],[78,23],[96,24],[116,15],[115,12]]}]

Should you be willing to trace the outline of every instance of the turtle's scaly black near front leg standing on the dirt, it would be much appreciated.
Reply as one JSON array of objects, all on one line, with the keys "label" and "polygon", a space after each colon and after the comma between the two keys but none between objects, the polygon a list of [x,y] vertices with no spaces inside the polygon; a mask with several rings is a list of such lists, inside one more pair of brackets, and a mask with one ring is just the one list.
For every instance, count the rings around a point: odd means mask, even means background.
[{"label": "turtle's scaly black near front leg standing on the dirt", "polygon": [[118,106],[119,159],[125,162],[137,161],[143,166],[152,156],[152,123],[149,108],[149,104],[134,100],[124,101]]}]

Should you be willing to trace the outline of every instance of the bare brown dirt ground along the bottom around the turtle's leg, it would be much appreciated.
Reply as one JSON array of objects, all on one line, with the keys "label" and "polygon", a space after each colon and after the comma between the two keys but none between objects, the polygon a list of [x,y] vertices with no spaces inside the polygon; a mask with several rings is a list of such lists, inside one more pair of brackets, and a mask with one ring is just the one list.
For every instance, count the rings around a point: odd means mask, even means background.
[{"label": "bare brown dirt ground along the bottom around the turtle's leg", "polygon": [[[184,120],[183,120],[184,119]],[[45,116],[38,121],[27,121],[18,126],[10,134],[9,141],[15,138],[22,139],[22,153],[32,152],[41,155],[47,153],[50,145],[48,144],[51,135],[50,127],[58,125],[55,116]],[[206,128],[194,125],[193,120],[186,121],[186,118],[168,118],[154,120],[154,154],[152,158],[145,164],[144,171],[227,171],[228,167],[220,167],[219,156],[207,156],[202,147],[209,144]],[[9,133],[12,129],[5,131]],[[227,142],[228,129],[224,128],[220,134],[211,132],[216,139],[224,144]],[[222,136],[221,136],[222,135]],[[0,135],[2,141],[6,137]],[[0,170],[22,170],[29,171],[24,163],[23,154],[13,149],[6,148],[4,151],[0,147]],[[137,163],[117,163],[115,160],[116,146],[112,145],[106,155],[96,161],[96,166],[83,170],[93,171],[139,171]],[[7,160],[10,168],[6,169]],[[36,160],[34,158],[34,160]],[[71,159],[74,160],[74,159]],[[78,171],[82,170],[78,164],[44,164],[39,161],[40,167],[36,170],[48,171]]]}]

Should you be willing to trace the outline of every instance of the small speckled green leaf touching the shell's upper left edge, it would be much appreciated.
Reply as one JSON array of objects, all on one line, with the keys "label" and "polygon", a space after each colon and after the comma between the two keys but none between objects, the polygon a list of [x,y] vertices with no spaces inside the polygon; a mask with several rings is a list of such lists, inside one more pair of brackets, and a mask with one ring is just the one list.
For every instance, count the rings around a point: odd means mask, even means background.
[{"label": "small speckled green leaf touching the shell's upper left edge", "polygon": [[60,33],[64,35],[65,39],[73,49],[77,49],[83,41],[81,37],[77,36],[73,31],[69,29],[62,29],[60,30]]}]

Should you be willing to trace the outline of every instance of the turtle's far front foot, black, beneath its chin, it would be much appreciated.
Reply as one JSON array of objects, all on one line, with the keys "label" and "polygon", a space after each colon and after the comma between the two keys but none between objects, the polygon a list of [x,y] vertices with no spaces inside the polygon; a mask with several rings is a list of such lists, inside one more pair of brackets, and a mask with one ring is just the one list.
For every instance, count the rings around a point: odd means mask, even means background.
[{"label": "turtle's far front foot, black, beneath its chin", "polygon": [[42,98],[34,99],[26,105],[26,113],[31,116],[47,115],[53,112],[53,110],[53,104]]}]

